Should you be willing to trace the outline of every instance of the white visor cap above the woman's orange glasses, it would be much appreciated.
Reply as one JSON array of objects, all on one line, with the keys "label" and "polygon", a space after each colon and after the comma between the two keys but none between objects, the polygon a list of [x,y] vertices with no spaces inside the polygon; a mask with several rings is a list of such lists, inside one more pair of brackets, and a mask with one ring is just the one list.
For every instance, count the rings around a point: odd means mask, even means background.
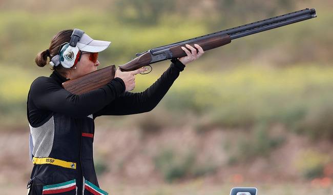
[{"label": "white visor cap above the woman's orange glasses", "polygon": [[111,42],[93,40],[87,34],[83,34],[80,41],[77,42],[76,46],[81,51],[95,53],[95,52],[101,52],[101,51],[107,49],[110,46],[110,44],[111,44]]}]

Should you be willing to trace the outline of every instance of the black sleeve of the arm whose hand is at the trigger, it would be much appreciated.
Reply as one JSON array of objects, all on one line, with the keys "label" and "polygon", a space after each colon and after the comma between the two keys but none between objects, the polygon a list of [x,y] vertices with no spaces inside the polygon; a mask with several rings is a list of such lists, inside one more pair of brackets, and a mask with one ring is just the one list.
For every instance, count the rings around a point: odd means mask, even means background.
[{"label": "black sleeve of the arm whose hand is at the trigger", "polygon": [[124,90],[123,81],[115,78],[100,89],[75,95],[63,89],[52,78],[39,77],[31,85],[29,99],[40,110],[80,118],[95,113],[110,104]]}]

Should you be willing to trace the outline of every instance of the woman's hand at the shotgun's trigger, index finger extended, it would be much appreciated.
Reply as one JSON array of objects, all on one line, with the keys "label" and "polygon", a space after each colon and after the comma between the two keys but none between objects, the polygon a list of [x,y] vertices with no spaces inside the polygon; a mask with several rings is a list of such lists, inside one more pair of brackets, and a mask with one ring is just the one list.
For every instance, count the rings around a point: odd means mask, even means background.
[{"label": "woman's hand at the shotgun's trigger, index finger extended", "polygon": [[132,91],[135,88],[135,75],[147,70],[148,68],[139,68],[133,71],[121,71],[121,69],[118,68],[114,77],[122,79],[126,86],[125,91]]}]

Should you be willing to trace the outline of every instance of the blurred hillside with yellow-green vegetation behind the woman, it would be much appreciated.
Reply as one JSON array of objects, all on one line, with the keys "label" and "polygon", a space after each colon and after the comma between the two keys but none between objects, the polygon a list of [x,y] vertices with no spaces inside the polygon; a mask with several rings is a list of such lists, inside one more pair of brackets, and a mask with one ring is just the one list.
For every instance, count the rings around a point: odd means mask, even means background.
[{"label": "blurred hillside with yellow-green vegetation behind the woman", "polygon": [[[110,194],[332,194],[333,2],[329,0],[0,1],[0,194],[26,193],[27,93],[35,56],[63,29],[111,41],[100,67],[135,53],[316,8],[318,17],[233,40],[186,66],[149,113],[96,120]],[[136,76],[139,92],[170,62]]]}]

